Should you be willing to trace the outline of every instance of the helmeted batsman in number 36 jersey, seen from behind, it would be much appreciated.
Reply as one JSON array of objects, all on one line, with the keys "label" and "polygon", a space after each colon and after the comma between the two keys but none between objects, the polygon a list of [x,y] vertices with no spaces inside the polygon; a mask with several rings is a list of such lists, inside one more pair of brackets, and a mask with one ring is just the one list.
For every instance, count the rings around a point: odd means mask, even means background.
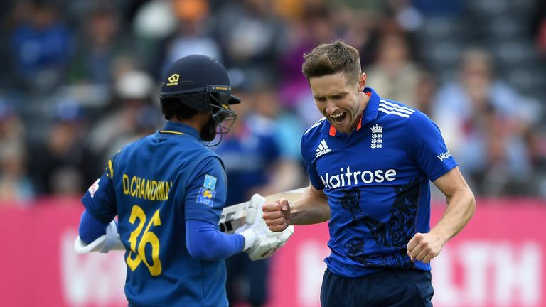
[{"label": "helmeted batsman in number 36 jersey, seen from behind", "polygon": [[[121,241],[129,306],[228,306],[223,259],[264,254],[258,247],[269,232],[264,222],[231,235],[218,229],[225,171],[201,141],[228,133],[236,117],[230,104],[240,100],[224,66],[204,55],[173,63],[160,100],[164,129],[115,154],[82,198],[76,246],[105,236],[107,252]],[[108,239],[118,232],[117,241]]]}]

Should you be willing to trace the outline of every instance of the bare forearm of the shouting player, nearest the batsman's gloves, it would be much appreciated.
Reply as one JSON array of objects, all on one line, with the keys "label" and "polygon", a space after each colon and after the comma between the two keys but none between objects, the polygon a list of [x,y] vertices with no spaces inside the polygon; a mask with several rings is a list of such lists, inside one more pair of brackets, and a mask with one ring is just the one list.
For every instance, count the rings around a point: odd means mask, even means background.
[{"label": "bare forearm of the shouting player, nearest the batsman's gloves", "polygon": [[322,195],[306,190],[299,200],[290,205],[290,225],[309,225],[330,219],[330,205]]}]

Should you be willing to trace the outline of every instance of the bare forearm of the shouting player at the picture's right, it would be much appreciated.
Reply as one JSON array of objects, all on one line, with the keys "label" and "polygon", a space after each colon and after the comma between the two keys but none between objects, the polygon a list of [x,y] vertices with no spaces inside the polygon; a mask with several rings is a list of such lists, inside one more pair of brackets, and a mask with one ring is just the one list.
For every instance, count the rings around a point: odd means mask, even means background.
[{"label": "bare forearm of the shouting player at the picture's right", "polygon": [[458,234],[476,211],[476,200],[470,189],[456,190],[447,198],[444,216],[430,232],[440,235],[444,242]]}]

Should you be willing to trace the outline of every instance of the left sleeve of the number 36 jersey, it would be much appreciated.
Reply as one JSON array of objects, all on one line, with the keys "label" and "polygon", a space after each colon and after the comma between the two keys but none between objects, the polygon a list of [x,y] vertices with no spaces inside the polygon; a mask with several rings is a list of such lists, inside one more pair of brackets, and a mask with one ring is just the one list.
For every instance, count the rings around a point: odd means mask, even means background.
[{"label": "left sleeve of the number 36 jersey", "polygon": [[114,154],[108,161],[105,173],[93,183],[82,198],[85,209],[100,220],[108,223],[117,215],[116,193],[114,190],[114,161],[117,154]]}]

